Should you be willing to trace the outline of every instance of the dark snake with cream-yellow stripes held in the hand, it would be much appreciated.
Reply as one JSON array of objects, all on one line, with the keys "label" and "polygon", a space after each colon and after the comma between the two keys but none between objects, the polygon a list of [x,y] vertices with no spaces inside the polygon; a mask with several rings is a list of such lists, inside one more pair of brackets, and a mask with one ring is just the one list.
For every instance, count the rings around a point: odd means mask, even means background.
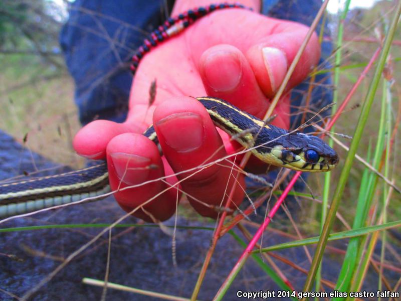
[{"label": "dark snake with cream-yellow stripes held in the hand", "polygon": [[[196,100],[204,105],[217,127],[264,163],[301,172],[327,172],[338,164],[335,150],[317,136],[267,124],[223,99],[198,97]],[[153,125],[143,135],[158,144]],[[5,182],[0,184],[0,218],[108,192],[106,162],[59,175]]]}]

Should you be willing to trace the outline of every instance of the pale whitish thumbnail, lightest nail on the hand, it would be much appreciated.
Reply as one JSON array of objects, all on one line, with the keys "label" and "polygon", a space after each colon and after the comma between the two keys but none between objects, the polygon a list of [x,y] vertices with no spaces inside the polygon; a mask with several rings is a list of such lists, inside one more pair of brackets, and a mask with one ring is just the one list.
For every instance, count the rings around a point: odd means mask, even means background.
[{"label": "pale whitish thumbnail, lightest nail on the hand", "polygon": [[287,57],[280,49],[273,47],[262,48],[262,54],[272,91],[275,92],[287,73]]}]

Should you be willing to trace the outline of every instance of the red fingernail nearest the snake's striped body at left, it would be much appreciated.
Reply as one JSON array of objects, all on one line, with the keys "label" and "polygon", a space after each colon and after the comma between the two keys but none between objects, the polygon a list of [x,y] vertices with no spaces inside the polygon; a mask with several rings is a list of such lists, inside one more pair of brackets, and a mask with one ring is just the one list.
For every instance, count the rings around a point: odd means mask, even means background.
[{"label": "red fingernail nearest the snake's striped body at left", "polygon": [[149,158],[126,153],[112,153],[110,157],[118,179],[125,184],[136,185],[148,178],[152,165]]}]

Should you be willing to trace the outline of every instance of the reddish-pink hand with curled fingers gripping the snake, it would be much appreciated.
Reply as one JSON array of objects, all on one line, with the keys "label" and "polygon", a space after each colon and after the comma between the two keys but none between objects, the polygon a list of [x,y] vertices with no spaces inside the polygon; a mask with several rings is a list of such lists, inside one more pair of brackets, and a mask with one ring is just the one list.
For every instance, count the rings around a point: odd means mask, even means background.
[{"label": "reddish-pink hand with curled fingers gripping the snake", "polygon": [[[89,123],[75,136],[77,153],[92,159],[107,157],[113,190],[120,182],[121,187],[139,184],[232,154],[238,144],[216,130],[206,109],[192,97],[224,98],[263,117],[307,31],[303,25],[241,9],[214,12],[196,21],[145,55],[132,84],[127,120],[122,124],[105,120]],[[262,51],[264,47],[268,48]],[[287,90],[307,76],[319,57],[320,46],[313,35]],[[156,99],[149,107],[148,91],[154,79]],[[278,117],[273,124],[288,128],[288,95],[281,99],[274,113]],[[152,122],[163,158],[154,143],[141,135]],[[230,162],[222,164],[228,167],[214,165],[181,183],[189,202],[203,216],[216,218],[218,213],[194,199],[217,206],[226,202],[227,197],[223,200],[223,196],[231,169]],[[258,170],[257,165],[260,166],[257,160],[252,160],[249,168]],[[125,172],[126,167],[129,169]],[[188,175],[166,180],[174,184]],[[243,176],[238,181],[244,187]],[[234,182],[231,177],[227,194]],[[115,197],[124,210],[131,211],[167,187],[158,181],[118,192]],[[232,201],[239,205],[243,196],[237,185]],[[176,198],[176,189],[170,189],[146,205],[146,212],[139,210],[134,215],[146,221],[166,220],[176,210]]]}]

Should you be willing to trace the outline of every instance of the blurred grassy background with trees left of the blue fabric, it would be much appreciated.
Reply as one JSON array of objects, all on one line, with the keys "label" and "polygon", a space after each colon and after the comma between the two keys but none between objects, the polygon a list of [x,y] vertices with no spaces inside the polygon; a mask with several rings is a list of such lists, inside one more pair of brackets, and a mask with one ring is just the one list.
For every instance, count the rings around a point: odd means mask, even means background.
[{"label": "blurred grassy background with trees left of the blue fabric", "polygon": [[59,46],[67,4],[0,2],[0,128],[55,162],[75,167],[79,129],[74,87]]}]

